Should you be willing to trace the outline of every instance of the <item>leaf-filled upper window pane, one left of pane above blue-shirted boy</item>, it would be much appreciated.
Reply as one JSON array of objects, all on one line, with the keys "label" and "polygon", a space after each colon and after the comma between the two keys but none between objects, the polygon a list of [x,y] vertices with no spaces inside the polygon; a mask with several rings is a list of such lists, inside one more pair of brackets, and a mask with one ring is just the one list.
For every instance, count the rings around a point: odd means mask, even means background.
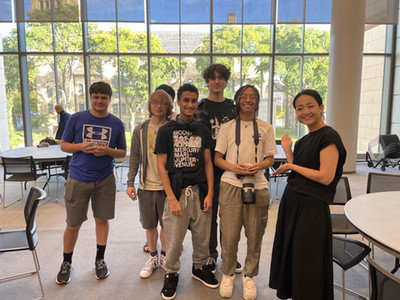
[{"label": "leaf-filled upper window pane, one left of pane above blue-shirted boy", "polygon": [[82,52],[82,25],[80,23],[55,23],[57,52]]}]

